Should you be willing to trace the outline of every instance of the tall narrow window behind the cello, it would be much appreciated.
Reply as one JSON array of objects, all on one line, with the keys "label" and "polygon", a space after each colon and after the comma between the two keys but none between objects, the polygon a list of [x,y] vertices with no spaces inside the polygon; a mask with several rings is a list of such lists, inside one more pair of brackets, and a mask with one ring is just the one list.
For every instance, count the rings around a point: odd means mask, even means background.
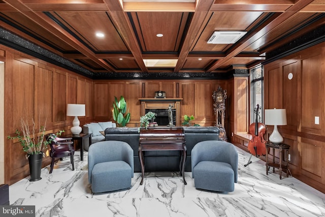
[{"label": "tall narrow window behind the cello", "polygon": [[250,70],[250,122],[255,122],[255,109],[259,105],[258,122],[263,122],[264,109],[264,75],[261,65]]}]

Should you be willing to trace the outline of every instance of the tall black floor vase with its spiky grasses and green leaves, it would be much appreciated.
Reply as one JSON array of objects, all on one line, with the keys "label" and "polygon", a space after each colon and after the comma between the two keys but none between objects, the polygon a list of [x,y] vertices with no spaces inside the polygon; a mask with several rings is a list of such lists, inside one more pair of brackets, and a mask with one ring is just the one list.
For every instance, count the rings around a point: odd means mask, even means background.
[{"label": "tall black floor vase with its spiky grasses and green leaves", "polygon": [[[46,122],[46,120],[45,120]],[[51,142],[50,140],[44,140],[45,138],[45,126],[41,126],[39,123],[39,130],[36,132],[36,124],[34,119],[31,119],[32,129],[29,130],[28,120],[21,118],[20,126],[21,132],[16,130],[16,136],[8,136],[8,139],[17,139],[22,146],[22,150],[26,152],[26,159],[29,163],[29,181],[38,181],[41,178],[42,158],[45,157],[43,150]],[[61,135],[64,131],[61,130],[56,135]],[[22,135],[21,135],[22,134]]]}]

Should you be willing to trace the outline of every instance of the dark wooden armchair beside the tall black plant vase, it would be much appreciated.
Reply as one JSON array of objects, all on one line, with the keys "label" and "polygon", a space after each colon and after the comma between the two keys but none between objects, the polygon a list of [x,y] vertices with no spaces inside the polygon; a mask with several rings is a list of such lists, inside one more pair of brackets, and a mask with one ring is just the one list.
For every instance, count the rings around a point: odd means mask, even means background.
[{"label": "dark wooden armchair beside the tall black plant vase", "polygon": [[45,138],[46,140],[51,141],[49,143],[50,157],[52,158],[50,173],[52,173],[53,171],[54,160],[56,158],[64,158],[64,157],[70,157],[72,170],[75,170],[74,159],[73,159],[75,154],[75,149],[73,147],[72,138],[60,138],[53,133],[46,134]]}]

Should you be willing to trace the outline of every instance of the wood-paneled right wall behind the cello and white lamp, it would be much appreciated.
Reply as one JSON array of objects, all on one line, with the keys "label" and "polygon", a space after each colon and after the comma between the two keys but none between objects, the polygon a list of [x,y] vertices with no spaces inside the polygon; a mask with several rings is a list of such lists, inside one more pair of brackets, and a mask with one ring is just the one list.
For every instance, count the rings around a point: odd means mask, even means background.
[{"label": "wood-paneled right wall behind the cello and white lamp", "polygon": [[325,43],[270,63],[264,72],[265,108],[286,109],[287,125],[278,129],[290,145],[291,173],[325,192]]}]

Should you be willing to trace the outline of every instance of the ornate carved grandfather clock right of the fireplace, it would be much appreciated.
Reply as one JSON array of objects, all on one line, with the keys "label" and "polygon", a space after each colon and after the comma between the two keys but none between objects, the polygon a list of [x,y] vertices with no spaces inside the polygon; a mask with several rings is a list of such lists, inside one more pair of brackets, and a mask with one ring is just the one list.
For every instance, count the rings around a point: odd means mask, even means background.
[{"label": "ornate carved grandfather clock right of the fireplace", "polygon": [[[212,98],[214,100],[213,111],[215,115],[215,124],[220,129],[219,138],[227,141],[226,132],[224,129],[224,110],[225,110],[225,99],[227,98],[227,91],[223,90],[220,86],[217,90],[213,91]],[[221,121],[221,123],[220,123]]]}]

